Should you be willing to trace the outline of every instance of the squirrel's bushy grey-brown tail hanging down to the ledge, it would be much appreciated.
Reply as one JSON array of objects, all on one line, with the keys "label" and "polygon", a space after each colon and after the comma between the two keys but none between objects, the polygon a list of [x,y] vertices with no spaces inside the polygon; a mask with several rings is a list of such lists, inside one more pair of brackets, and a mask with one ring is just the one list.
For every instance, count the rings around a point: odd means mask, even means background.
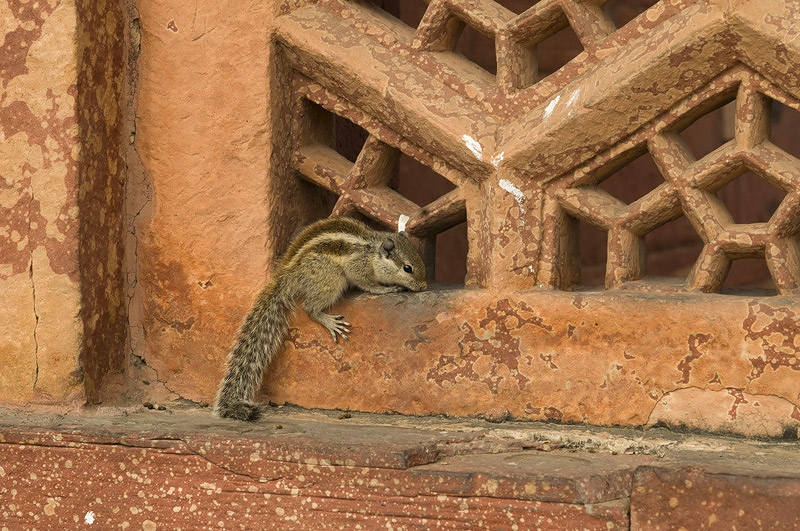
[{"label": "squirrel's bushy grey-brown tail hanging down to the ledge", "polygon": [[263,406],[253,401],[264,369],[286,337],[293,301],[280,277],[258,295],[225,364],[214,413],[219,417],[255,421]]}]

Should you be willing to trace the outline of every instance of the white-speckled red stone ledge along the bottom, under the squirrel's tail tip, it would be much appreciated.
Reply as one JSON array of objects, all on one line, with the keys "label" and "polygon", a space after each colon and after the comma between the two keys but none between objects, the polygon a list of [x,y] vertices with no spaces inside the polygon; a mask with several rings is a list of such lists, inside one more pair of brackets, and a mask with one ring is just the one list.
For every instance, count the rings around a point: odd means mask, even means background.
[{"label": "white-speckled red stone ledge along the bottom, under the squirrel's tail tip", "polygon": [[0,410],[0,516],[9,529],[798,523],[796,442],[337,415]]}]

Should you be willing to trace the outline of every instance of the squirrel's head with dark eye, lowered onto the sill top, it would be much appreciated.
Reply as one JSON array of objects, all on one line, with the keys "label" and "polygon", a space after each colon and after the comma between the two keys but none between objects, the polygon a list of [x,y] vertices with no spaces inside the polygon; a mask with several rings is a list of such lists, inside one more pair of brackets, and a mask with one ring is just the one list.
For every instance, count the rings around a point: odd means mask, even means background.
[{"label": "squirrel's head with dark eye, lowered onto the sill top", "polygon": [[383,239],[378,247],[375,276],[381,284],[410,291],[422,291],[428,287],[425,264],[405,232],[387,234]]}]

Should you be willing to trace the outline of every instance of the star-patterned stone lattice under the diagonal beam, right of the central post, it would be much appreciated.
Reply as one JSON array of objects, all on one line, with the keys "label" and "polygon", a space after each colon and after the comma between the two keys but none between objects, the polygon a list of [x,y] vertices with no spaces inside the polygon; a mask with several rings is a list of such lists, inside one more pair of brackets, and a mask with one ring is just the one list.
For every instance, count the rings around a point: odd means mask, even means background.
[{"label": "star-patterned stone lattice under the diagonal beam, right of the central post", "polygon": [[[546,240],[543,256],[554,263],[561,257],[552,281],[555,287],[569,288],[577,283],[576,262],[570,258],[577,241],[576,224],[566,214],[608,231],[607,288],[642,279],[646,275],[644,235],[686,215],[703,239],[704,248],[684,289],[718,292],[733,260],[762,258],[767,260],[780,293],[797,290],[800,161],[768,142],[769,99],[756,87],[756,76],[742,71],[731,81],[734,82],[728,82],[727,91],[737,91],[735,138],[697,161],[676,133],[685,121],[681,116],[674,124],[653,128],[647,145],[665,183],[634,203],[626,205],[595,186],[607,175],[606,167],[578,169],[548,185],[546,196],[552,197],[555,204],[545,229],[550,239]],[[720,101],[719,95],[724,96],[725,92],[713,95],[712,104]],[[707,106],[703,102],[697,107]],[[684,113],[690,117],[697,114],[693,109]],[[639,151],[634,149],[633,153],[638,155]],[[614,168],[632,156],[623,154],[608,164]],[[623,162],[618,162],[620,159]],[[736,223],[716,194],[747,171],[787,194],[769,221]],[[560,240],[566,240],[561,247],[556,245]],[[554,251],[548,253],[548,248]],[[568,252],[562,252],[564,249]]]}]

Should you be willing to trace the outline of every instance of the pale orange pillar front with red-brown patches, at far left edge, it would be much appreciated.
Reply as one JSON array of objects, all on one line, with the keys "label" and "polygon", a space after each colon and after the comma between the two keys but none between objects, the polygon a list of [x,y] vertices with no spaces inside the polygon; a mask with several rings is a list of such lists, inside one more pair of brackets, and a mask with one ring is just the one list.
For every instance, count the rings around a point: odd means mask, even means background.
[{"label": "pale orange pillar front with red-brown patches, at far left edge", "polygon": [[0,9],[0,399],[63,399],[82,381],[76,7]]}]

